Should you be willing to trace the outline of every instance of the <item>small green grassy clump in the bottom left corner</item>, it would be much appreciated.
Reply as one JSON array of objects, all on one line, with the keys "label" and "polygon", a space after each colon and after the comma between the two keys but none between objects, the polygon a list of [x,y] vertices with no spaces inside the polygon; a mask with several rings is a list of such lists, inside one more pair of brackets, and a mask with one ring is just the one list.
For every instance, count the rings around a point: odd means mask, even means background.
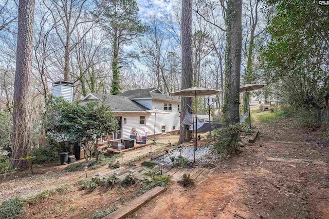
[{"label": "small green grassy clump in the bottom left corner", "polygon": [[25,201],[20,197],[11,198],[0,205],[0,219],[18,218],[23,211]]}]

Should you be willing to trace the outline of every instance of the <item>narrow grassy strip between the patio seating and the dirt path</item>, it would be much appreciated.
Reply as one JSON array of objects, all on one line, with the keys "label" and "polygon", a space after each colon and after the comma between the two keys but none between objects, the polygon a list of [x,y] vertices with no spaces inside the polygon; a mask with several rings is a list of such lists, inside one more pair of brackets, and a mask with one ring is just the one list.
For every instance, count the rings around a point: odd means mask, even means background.
[{"label": "narrow grassy strip between the patio seating and the dirt path", "polygon": [[96,158],[92,158],[89,162],[82,161],[82,162],[76,162],[70,164],[67,167],[65,167],[65,170],[68,172],[82,171],[82,168],[84,166],[88,166],[88,168],[95,170],[104,165],[113,164],[115,160],[117,160],[117,158],[120,156],[122,156],[122,154],[113,154],[111,156],[99,155],[98,164],[96,163]]}]

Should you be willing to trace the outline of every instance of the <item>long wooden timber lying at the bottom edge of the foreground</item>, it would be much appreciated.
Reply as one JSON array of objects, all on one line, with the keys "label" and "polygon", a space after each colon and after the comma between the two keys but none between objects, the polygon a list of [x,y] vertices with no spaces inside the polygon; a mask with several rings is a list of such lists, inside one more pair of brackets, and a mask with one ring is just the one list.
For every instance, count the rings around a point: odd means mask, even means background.
[{"label": "long wooden timber lying at the bottom edge of the foreground", "polygon": [[143,206],[145,203],[152,200],[152,198],[158,196],[162,192],[165,192],[166,188],[157,186],[150,191],[142,194],[141,196],[137,197],[132,202],[128,203],[127,205],[119,208],[118,210],[112,212],[111,214],[108,214],[107,216],[103,217],[103,219],[121,219],[129,216],[133,212],[135,212],[137,209],[139,209],[141,206]]}]

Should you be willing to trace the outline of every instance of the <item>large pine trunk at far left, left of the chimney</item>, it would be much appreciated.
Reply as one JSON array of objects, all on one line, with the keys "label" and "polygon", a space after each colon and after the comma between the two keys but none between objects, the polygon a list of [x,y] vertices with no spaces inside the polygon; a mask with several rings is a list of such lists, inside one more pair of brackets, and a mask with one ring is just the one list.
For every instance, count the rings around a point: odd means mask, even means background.
[{"label": "large pine trunk at far left, left of the chimney", "polygon": [[30,155],[30,109],[29,96],[32,74],[34,0],[20,0],[16,71],[13,110],[13,161],[12,168],[28,169],[31,160],[19,160]]}]

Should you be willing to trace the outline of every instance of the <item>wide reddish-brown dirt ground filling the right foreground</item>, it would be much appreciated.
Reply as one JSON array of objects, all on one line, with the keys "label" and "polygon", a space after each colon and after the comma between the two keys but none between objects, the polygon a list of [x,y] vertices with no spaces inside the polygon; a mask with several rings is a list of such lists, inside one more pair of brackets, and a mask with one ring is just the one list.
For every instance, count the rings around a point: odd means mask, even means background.
[{"label": "wide reddish-brown dirt ground filling the right foreground", "polygon": [[174,183],[130,218],[329,218],[328,166],[266,160],[328,162],[320,131],[298,130],[289,121],[259,128],[255,144],[222,161],[208,180],[189,188]]}]

